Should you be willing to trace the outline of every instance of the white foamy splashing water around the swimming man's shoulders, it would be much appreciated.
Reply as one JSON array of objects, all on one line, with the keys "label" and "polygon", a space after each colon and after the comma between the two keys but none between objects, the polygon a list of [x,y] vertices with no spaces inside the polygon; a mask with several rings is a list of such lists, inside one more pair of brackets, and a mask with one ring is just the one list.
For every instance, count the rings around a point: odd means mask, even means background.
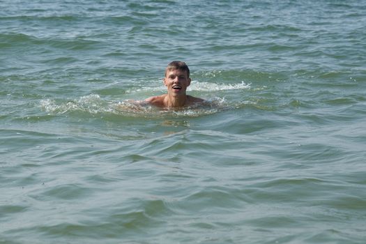
[{"label": "white foamy splashing water around the swimming man's shoulders", "polygon": [[[145,81],[148,82],[148,81]],[[162,91],[164,92],[165,87],[157,86],[155,83],[158,81],[149,81],[150,86],[140,86],[130,89],[127,93],[147,93],[151,91]],[[161,82],[161,81],[159,81]],[[230,90],[244,90],[250,89],[250,84],[241,82],[238,84],[216,84],[210,82],[192,82],[191,86],[188,87],[190,91],[200,91],[202,93],[212,91],[230,91]],[[144,94],[145,96],[146,94]],[[204,94],[201,94],[204,97]],[[224,96],[224,94],[221,94]],[[215,96],[215,95],[214,95]],[[135,94],[133,97],[140,97]],[[214,114],[220,112],[223,109],[235,108],[231,106],[224,98],[213,97],[206,99],[206,102],[191,107],[184,107],[181,109],[160,109],[147,105],[144,102],[136,100],[117,100],[108,101],[103,100],[97,94],[91,94],[88,96],[82,96],[81,98],[73,100],[52,100],[45,99],[40,101],[40,109],[49,114],[68,114],[73,112],[84,112],[86,114],[110,114],[110,115],[121,115],[121,116],[139,116],[139,117],[162,117],[162,116],[173,116],[173,117],[196,117],[204,116],[208,114]]]}]

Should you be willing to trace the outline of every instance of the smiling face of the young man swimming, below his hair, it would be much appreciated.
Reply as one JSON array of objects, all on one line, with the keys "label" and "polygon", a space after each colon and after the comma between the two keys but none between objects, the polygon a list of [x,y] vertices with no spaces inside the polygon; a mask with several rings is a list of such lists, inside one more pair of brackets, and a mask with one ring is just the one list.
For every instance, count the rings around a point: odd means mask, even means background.
[{"label": "smiling face of the young man swimming, below his hair", "polygon": [[167,70],[164,78],[168,93],[173,96],[185,95],[187,87],[190,86],[190,81],[191,79],[185,70]]}]

